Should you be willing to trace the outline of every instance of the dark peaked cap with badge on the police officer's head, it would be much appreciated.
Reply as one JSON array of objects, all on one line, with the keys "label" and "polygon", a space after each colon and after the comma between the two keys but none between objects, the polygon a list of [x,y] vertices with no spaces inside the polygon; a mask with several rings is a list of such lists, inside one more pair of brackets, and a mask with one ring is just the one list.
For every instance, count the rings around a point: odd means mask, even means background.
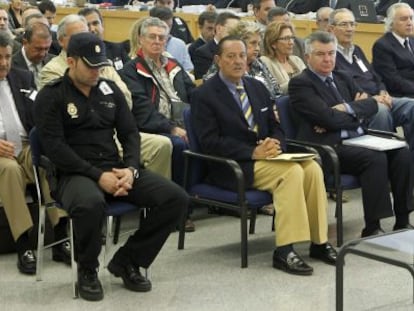
[{"label": "dark peaked cap with badge on the police officer's head", "polygon": [[90,32],[72,35],[66,53],[68,57],[82,58],[89,67],[110,66],[103,41]]}]

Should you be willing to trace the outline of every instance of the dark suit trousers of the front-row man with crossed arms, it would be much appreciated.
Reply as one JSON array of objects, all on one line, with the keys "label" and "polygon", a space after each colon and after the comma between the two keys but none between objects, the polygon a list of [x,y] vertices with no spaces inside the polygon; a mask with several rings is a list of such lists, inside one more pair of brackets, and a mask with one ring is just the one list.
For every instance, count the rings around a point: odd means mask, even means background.
[{"label": "dark suit trousers of the front-row man with crossed arms", "polygon": [[336,150],[341,172],[359,177],[366,224],[394,214],[397,221],[408,221],[408,214],[413,209],[413,185],[410,174],[411,155],[407,148],[375,151],[338,145]]}]

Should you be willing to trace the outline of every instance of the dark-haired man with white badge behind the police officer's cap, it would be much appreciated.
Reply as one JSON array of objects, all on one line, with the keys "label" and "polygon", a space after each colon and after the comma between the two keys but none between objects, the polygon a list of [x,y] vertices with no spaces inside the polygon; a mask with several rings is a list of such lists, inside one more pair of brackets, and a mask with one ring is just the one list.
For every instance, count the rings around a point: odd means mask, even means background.
[{"label": "dark-haired man with white badge behind the police officer's cap", "polygon": [[[85,17],[88,23],[89,32],[98,36],[99,39],[104,38],[104,27],[102,15],[98,9],[95,8],[83,8],[78,12],[79,15]],[[129,61],[128,52],[125,49],[123,43],[105,41],[106,57],[111,61],[112,66],[118,71],[124,67]]]}]

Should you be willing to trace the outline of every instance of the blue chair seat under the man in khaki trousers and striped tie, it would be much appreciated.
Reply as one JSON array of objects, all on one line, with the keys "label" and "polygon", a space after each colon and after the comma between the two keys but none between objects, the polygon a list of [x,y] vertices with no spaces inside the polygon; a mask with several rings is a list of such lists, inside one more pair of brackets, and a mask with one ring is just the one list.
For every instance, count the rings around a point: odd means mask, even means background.
[{"label": "blue chair seat under the man in khaki trousers and striped tie", "polygon": [[[237,192],[209,184],[196,184],[191,187],[189,194],[202,199],[238,204]],[[247,190],[246,200],[249,208],[261,208],[273,201],[269,192],[259,190]]]}]

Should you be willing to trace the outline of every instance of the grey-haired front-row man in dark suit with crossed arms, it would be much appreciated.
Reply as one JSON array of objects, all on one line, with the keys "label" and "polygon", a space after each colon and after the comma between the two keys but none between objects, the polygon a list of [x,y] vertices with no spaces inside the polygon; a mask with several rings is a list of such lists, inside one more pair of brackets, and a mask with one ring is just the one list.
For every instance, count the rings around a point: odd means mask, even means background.
[{"label": "grey-haired front-row man in dark suit with crossed arms", "polygon": [[337,50],[333,34],[314,32],[305,40],[305,50],[308,68],[289,83],[297,138],[331,145],[341,172],[358,176],[365,220],[362,237],[382,232],[380,219],[392,216],[393,211],[394,230],[412,228],[408,222],[413,208],[409,150],[381,152],[342,144],[344,139],[364,133],[365,122],[378,111],[378,105],[389,104],[386,97],[368,97],[348,74],[332,74]]}]

